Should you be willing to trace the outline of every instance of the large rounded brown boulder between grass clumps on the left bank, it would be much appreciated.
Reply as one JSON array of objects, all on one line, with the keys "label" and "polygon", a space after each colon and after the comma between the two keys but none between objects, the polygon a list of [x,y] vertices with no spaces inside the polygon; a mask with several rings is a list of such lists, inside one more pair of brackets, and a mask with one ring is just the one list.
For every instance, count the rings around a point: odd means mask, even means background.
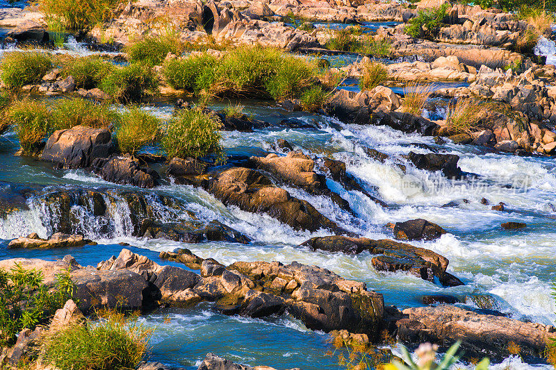
[{"label": "large rounded brown boulder between grass clumps on the left bank", "polygon": [[108,158],[115,153],[112,134],[105,128],[74,126],[57,130],[49,137],[40,159],[64,168],[85,168],[95,158]]}]

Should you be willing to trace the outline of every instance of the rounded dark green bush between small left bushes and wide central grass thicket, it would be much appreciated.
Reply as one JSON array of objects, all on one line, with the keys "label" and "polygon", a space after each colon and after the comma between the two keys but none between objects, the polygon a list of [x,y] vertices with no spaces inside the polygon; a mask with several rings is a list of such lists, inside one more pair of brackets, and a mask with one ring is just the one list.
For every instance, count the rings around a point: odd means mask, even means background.
[{"label": "rounded dark green bush between small left bushes and wide central grass thicket", "polygon": [[113,69],[99,87],[120,103],[139,102],[149,94],[156,94],[158,78],[148,65],[133,63]]}]

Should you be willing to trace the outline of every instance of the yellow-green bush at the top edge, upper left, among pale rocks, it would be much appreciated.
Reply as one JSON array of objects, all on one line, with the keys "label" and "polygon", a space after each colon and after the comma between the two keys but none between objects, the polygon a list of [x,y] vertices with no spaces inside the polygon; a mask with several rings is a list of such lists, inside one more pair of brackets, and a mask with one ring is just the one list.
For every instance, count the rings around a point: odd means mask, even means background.
[{"label": "yellow-green bush at the top edge, upper left, among pale rocks", "polygon": [[66,28],[81,30],[95,26],[113,15],[119,0],[38,0],[39,9]]}]

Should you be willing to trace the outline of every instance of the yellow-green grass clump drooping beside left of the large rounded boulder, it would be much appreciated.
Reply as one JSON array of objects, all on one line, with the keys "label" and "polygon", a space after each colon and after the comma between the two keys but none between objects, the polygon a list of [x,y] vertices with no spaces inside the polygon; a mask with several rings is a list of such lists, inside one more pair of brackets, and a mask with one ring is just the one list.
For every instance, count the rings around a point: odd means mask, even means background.
[{"label": "yellow-green grass clump drooping beside left of the large rounded boulder", "polygon": [[8,119],[17,125],[22,153],[34,154],[42,148],[44,137],[54,131],[52,114],[46,103],[24,99],[8,110]]}]

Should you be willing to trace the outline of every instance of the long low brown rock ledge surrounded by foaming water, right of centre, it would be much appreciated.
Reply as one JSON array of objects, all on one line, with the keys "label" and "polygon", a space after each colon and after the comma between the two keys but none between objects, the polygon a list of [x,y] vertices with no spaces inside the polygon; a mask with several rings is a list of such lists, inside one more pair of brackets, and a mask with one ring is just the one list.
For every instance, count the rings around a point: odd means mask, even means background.
[{"label": "long low brown rock ledge surrounded by foaming water, right of centre", "polygon": [[394,242],[393,240],[373,240],[366,237],[352,238],[343,236],[313,237],[302,246],[320,251],[361,253],[368,251],[373,255],[373,267],[378,271],[407,271],[409,274],[434,282],[438,279],[442,285],[463,285],[461,281],[446,272],[448,259],[410,244]]}]

